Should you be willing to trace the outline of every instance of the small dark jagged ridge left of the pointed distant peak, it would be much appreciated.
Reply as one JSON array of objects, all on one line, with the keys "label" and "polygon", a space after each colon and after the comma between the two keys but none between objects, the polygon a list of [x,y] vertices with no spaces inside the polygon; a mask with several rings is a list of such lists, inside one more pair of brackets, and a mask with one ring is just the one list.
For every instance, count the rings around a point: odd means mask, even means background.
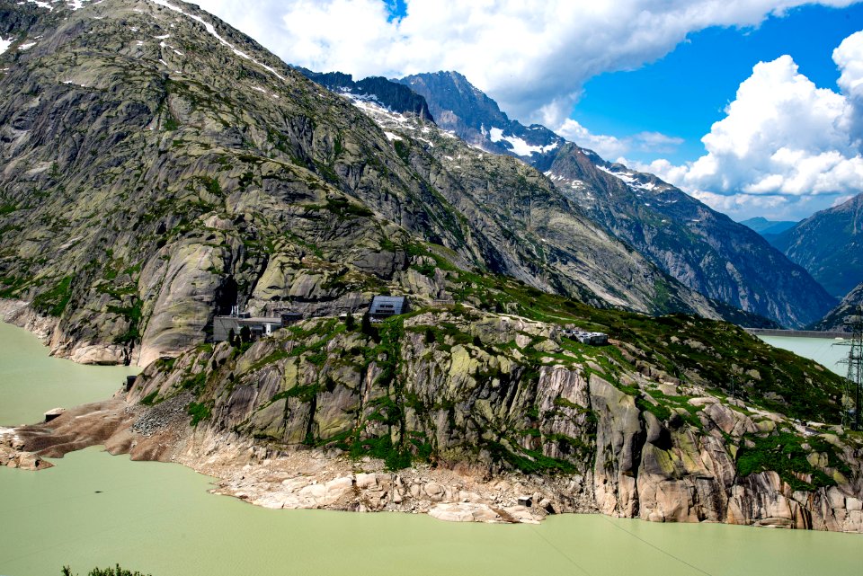
[{"label": "small dark jagged ridge left of the pointed distant peak", "polygon": [[297,70],[309,80],[321,84],[337,93],[350,93],[355,97],[367,97],[389,111],[414,114],[422,120],[434,122],[425,98],[403,84],[387,80],[383,76],[369,76],[354,82],[350,74],[342,72],[313,72],[302,66]]}]

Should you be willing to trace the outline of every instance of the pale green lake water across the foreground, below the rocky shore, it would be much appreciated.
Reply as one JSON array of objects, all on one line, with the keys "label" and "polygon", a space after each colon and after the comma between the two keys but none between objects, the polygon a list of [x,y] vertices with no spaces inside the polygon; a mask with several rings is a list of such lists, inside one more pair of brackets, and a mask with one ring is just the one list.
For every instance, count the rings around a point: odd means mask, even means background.
[{"label": "pale green lake water across the foreground, below the rocky shore", "polygon": [[[4,327],[5,328],[5,327]],[[0,332],[0,350],[27,334]],[[34,373],[47,362],[31,359]],[[71,363],[69,363],[71,364]],[[71,365],[69,368],[73,368]],[[7,369],[0,357],[0,382]],[[104,374],[113,391],[117,374]],[[12,421],[58,404],[12,400]],[[0,468],[0,574],[56,576],[121,563],[154,576],[772,575],[859,573],[863,536],[565,515],[540,526],[450,524],[408,514],[265,510],[209,494],[180,465],[88,448],[39,473]]]}]

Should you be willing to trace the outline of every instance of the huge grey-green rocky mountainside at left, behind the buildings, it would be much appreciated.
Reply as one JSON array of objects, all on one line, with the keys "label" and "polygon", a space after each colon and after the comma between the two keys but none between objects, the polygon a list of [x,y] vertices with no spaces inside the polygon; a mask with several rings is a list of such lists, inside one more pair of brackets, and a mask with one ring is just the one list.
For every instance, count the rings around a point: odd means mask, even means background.
[{"label": "huge grey-green rocky mountainside at left, behind the buildings", "polygon": [[14,38],[0,55],[0,297],[58,318],[55,353],[146,365],[204,341],[234,304],[444,297],[423,243],[594,306],[733,314],[532,168],[415,117],[387,135],[369,106],[172,5],[0,3]]}]

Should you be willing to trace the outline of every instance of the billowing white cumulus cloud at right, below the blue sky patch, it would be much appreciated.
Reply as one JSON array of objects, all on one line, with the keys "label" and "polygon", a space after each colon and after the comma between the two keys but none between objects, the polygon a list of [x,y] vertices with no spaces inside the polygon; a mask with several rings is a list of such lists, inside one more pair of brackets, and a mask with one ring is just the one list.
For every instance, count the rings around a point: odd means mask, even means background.
[{"label": "billowing white cumulus cloud at right, below the blue sky patch", "polygon": [[685,165],[634,165],[737,215],[770,208],[801,216],[863,191],[863,33],[844,40],[833,60],[841,93],[815,86],[789,56],[760,62],[701,139],[705,155]]}]

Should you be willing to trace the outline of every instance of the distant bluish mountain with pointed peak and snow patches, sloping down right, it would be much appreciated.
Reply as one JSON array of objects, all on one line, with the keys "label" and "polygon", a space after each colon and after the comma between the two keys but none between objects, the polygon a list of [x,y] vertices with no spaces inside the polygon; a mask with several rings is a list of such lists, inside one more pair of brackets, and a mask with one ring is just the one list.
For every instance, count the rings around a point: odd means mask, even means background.
[{"label": "distant bluish mountain with pointed peak and snow patches, sloping down right", "polygon": [[750,228],[652,174],[610,164],[547,128],[509,120],[464,76],[438,72],[398,82],[423,95],[441,128],[536,166],[609,234],[689,288],[793,327],[835,305],[805,270]]}]

